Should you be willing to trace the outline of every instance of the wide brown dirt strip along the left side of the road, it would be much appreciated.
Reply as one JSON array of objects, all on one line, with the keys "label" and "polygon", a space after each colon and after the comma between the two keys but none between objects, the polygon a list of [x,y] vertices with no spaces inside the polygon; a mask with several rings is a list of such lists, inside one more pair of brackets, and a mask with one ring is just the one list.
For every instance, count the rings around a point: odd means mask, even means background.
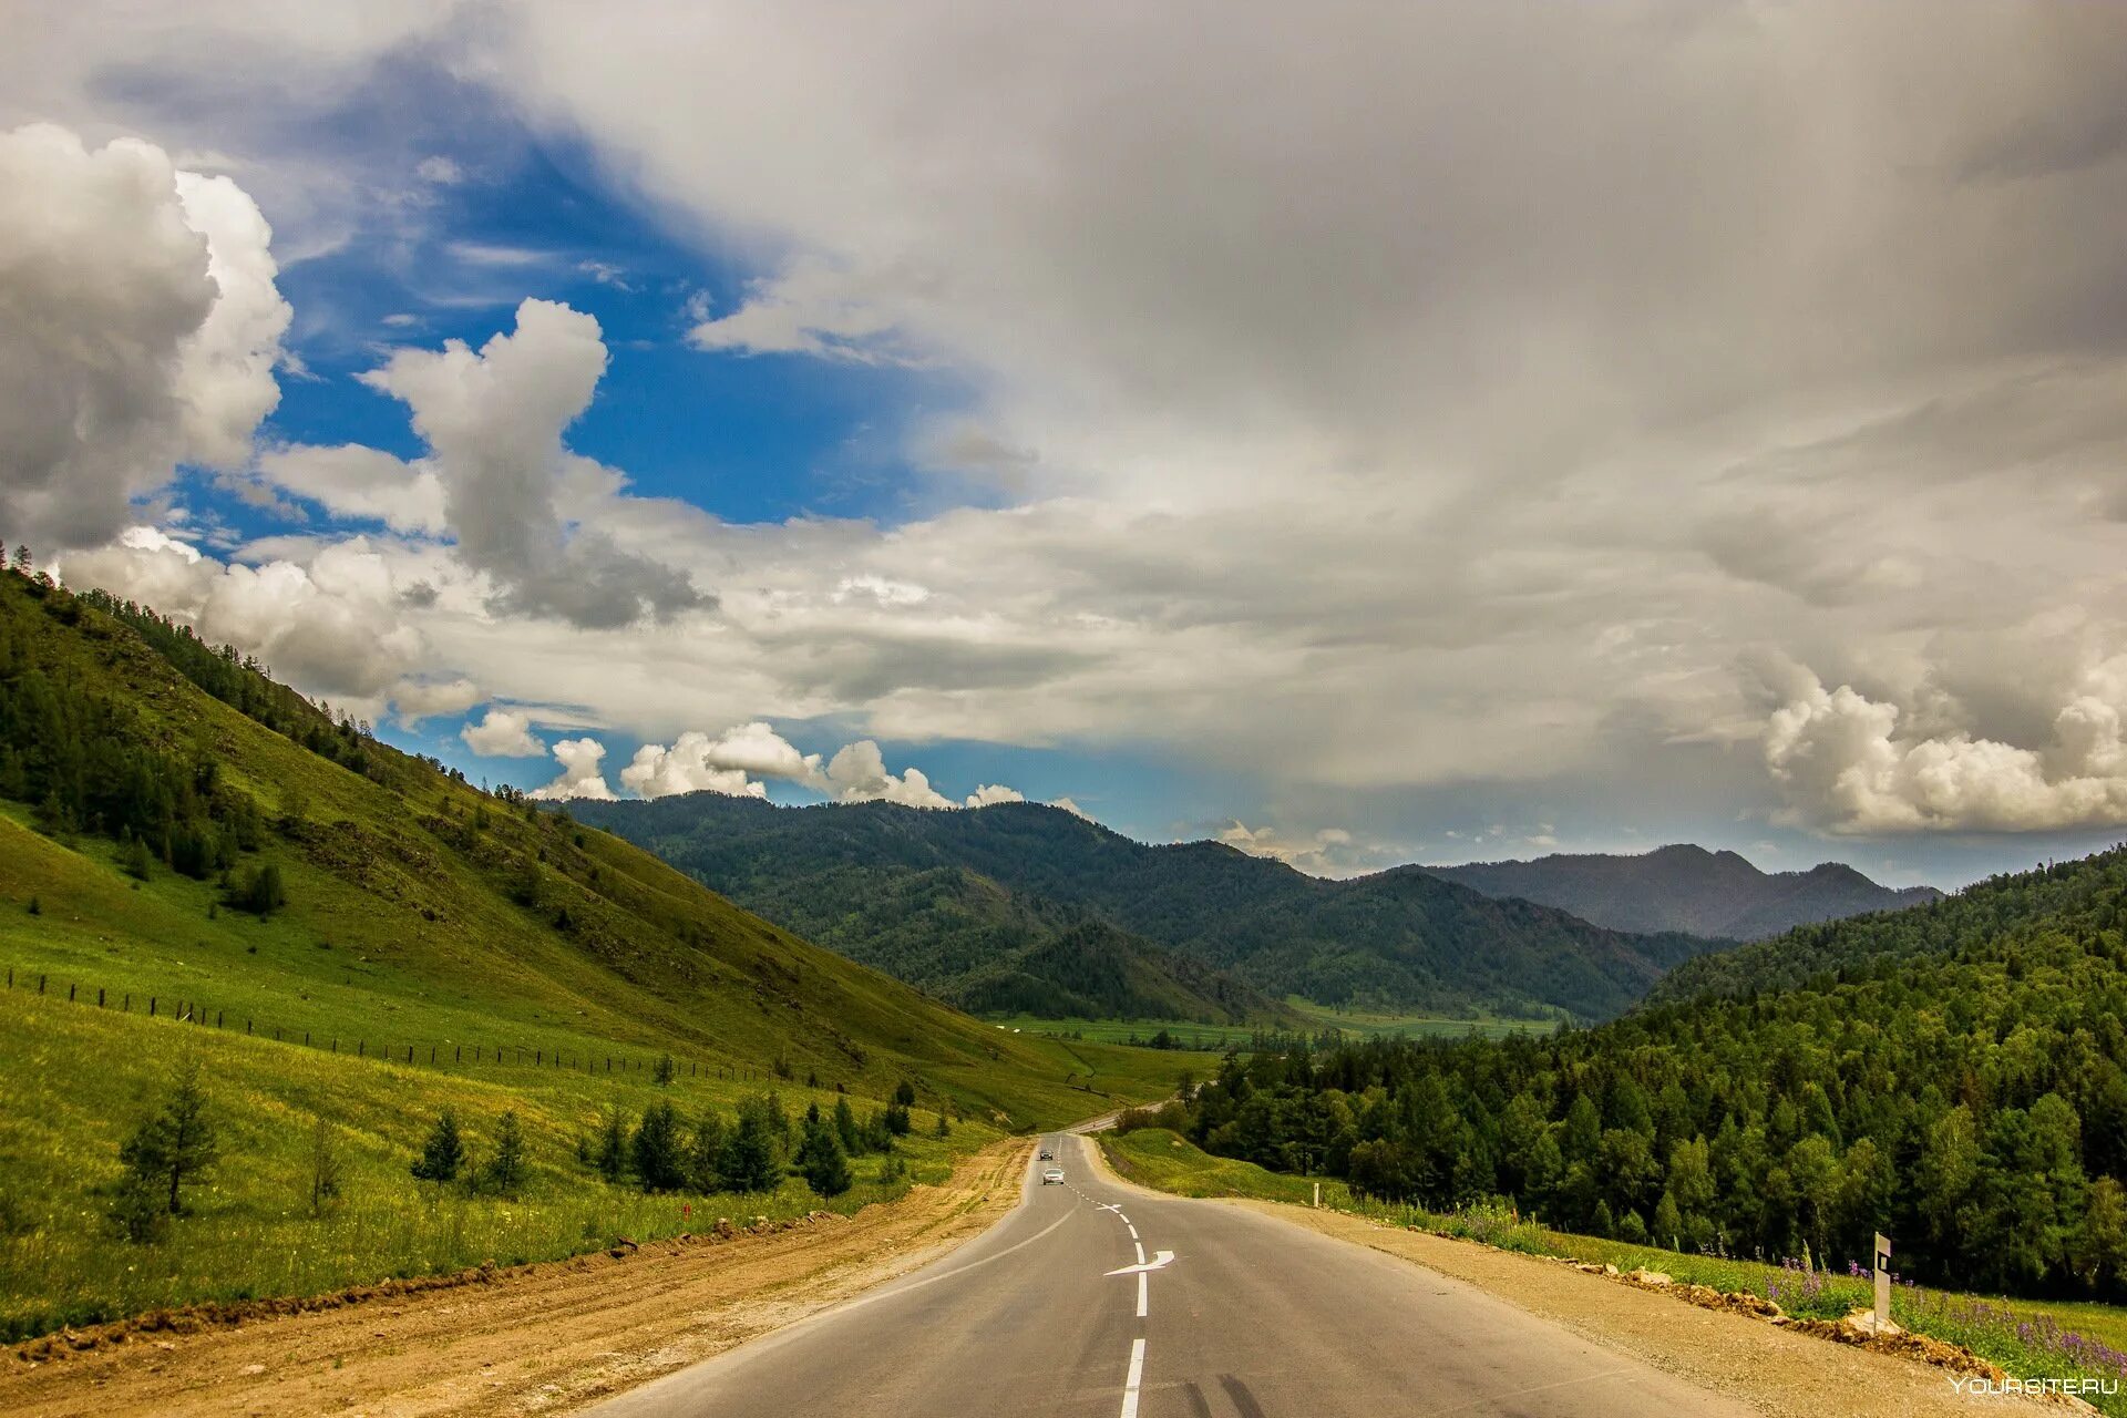
[{"label": "wide brown dirt strip along the left side of the road", "polygon": [[649,1244],[485,1284],[138,1335],[45,1363],[0,1358],[19,1418],[547,1414],[698,1363],[910,1271],[1019,1201],[1032,1142],[851,1220],[717,1244]]}]

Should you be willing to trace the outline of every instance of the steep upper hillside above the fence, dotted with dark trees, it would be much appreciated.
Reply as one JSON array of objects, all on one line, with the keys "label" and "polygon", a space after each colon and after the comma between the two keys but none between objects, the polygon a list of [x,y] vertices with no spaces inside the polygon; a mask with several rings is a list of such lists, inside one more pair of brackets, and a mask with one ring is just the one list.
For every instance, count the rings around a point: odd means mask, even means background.
[{"label": "steep upper hillside above the fence, dotted with dark trees", "polygon": [[[481,793],[151,610],[19,572],[0,574],[0,846],[9,963],[138,978],[143,999],[204,980],[319,1037],[370,1010],[434,1016],[423,1042],[772,1061],[1019,1118],[1093,1105],[1066,1086],[1078,1061]],[[117,908],[113,857],[134,882]]]}]

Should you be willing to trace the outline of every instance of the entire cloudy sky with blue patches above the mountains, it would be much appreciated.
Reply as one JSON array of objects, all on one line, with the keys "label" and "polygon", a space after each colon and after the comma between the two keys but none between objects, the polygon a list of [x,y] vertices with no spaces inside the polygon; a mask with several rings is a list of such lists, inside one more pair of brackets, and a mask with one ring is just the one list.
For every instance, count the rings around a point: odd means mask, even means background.
[{"label": "entire cloudy sky with blue patches above the mountains", "polygon": [[2127,835],[2127,9],[9,11],[0,536],[474,780]]}]

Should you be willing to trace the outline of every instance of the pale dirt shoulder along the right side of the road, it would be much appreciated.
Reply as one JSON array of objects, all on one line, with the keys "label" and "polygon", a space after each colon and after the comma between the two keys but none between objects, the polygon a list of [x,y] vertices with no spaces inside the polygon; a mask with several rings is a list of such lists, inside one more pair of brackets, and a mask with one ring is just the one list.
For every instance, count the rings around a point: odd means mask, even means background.
[{"label": "pale dirt shoulder along the right side of the road", "polygon": [[[1121,1186],[1093,1148],[1098,1165]],[[1159,1195],[1159,1193],[1155,1193]],[[2067,1414],[2067,1403],[1959,1395],[1942,1369],[1787,1333],[1763,1320],[1699,1310],[1570,1265],[1493,1250],[1363,1216],[1283,1201],[1215,1201],[1370,1246],[1463,1280],[1576,1335],[1646,1361],[1665,1373],[1729,1395],[1776,1418],[1936,1418],[1938,1414]],[[2080,1405],[2074,1405],[2080,1407]]]}]

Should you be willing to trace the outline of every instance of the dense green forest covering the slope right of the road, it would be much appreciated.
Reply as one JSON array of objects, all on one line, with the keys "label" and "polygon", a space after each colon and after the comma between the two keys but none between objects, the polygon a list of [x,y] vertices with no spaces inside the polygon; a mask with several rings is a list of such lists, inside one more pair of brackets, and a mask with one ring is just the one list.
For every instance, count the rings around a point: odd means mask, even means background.
[{"label": "dense green forest covering the slope right of the road", "polygon": [[[2123,904],[2112,850],[1808,927],[1746,978],[1702,963],[1597,1029],[1229,1059],[1187,1129],[1429,1208],[1506,1195],[1568,1231],[1863,1265],[1885,1231],[1914,1278],[2116,1297]],[[1706,976],[1734,989],[1685,989]]]}]

